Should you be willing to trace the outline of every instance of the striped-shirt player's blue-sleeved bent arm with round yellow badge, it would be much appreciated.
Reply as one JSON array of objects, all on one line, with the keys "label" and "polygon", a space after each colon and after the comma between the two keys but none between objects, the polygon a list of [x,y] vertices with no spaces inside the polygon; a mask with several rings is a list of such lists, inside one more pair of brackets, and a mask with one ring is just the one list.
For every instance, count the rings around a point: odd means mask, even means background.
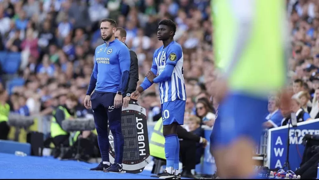
[{"label": "striped-shirt player's blue-sleeved bent arm with round yellow badge", "polygon": [[167,54],[168,59],[166,59],[165,69],[159,76],[154,78],[154,83],[163,82],[172,76],[174,67],[178,60],[182,58],[182,48],[180,46],[170,47]]}]

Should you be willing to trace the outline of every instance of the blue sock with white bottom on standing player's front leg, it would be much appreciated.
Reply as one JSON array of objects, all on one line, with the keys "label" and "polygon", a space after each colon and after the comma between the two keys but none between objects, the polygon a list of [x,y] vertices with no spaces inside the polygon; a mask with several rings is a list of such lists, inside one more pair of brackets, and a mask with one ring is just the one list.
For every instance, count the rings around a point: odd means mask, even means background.
[{"label": "blue sock with white bottom on standing player's front leg", "polygon": [[166,157],[166,171],[173,174],[174,156],[176,150],[176,134],[169,134],[165,136],[165,157]]}]

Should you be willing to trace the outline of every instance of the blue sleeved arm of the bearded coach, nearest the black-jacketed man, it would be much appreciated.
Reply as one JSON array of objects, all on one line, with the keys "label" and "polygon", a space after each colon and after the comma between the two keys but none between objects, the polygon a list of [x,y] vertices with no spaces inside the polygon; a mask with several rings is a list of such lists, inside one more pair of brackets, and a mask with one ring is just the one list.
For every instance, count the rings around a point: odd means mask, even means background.
[{"label": "blue sleeved arm of the bearded coach, nearest the black-jacketed man", "polygon": [[123,93],[125,86],[127,85],[127,82],[129,80],[130,65],[131,65],[130,51],[125,45],[120,47],[118,51],[118,59],[120,62],[122,77],[121,77],[121,82],[117,91],[120,91]]}]

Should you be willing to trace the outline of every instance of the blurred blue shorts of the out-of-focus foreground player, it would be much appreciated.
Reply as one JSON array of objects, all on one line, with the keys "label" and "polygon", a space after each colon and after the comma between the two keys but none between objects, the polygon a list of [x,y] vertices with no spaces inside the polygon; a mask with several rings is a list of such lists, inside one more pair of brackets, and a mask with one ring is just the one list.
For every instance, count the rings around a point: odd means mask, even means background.
[{"label": "blurred blue shorts of the out-of-focus foreground player", "polygon": [[230,93],[219,105],[211,132],[211,148],[227,146],[241,137],[255,143],[260,140],[264,116],[268,113],[267,98]]}]

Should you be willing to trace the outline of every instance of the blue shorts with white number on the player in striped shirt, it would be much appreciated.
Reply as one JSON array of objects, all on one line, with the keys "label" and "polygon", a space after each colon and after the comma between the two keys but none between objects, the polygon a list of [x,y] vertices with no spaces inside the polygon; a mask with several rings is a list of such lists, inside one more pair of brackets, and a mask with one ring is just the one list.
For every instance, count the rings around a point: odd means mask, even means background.
[{"label": "blue shorts with white number on the player in striped shirt", "polygon": [[184,124],[184,112],[185,112],[186,101],[175,100],[164,102],[162,107],[162,119],[163,125],[169,125],[173,122],[178,124]]}]

